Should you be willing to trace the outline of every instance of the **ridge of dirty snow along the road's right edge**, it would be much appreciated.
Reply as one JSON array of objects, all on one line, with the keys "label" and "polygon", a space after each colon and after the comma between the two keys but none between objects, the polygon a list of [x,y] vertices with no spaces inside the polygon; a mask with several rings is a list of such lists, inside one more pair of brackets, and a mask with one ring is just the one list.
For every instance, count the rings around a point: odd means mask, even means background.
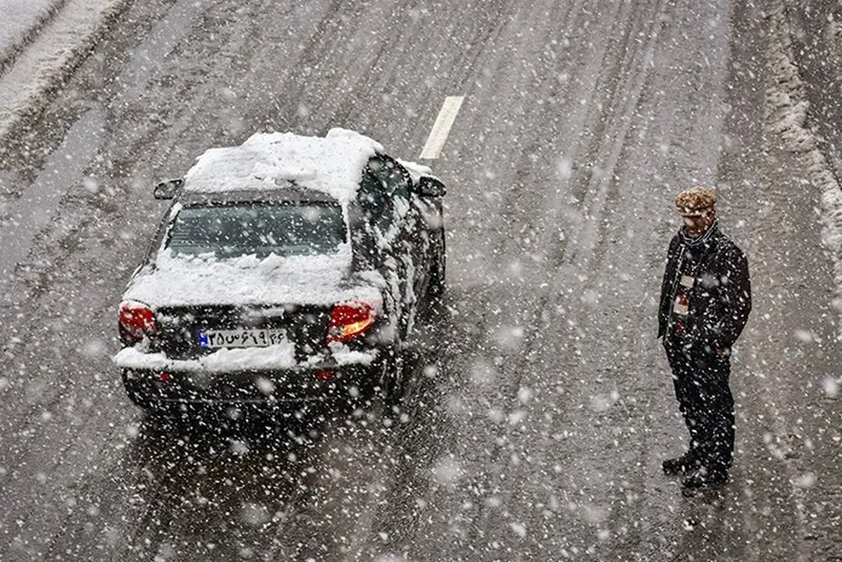
[{"label": "ridge of dirty snow along the road's right edge", "polygon": [[793,59],[783,3],[776,4],[769,21],[776,33],[769,42],[767,68],[775,79],[766,93],[766,132],[783,137],[787,148],[799,154],[809,170],[807,181],[822,193],[823,241],[833,258],[837,288],[834,307],[840,317],[837,340],[842,341],[842,188],[815,136],[805,127],[809,104]]}]

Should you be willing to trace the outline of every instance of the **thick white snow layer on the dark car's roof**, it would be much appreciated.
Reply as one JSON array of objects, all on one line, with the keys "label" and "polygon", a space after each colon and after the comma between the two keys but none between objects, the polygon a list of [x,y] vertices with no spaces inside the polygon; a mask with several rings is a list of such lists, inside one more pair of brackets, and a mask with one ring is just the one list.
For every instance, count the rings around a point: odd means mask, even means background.
[{"label": "thick white snow layer on the dark car's roof", "polygon": [[346,204],[354,199],[361,172],[383,147],[348,129],[324,137],[257,133],[239,146],[212,148],[184,176],[185,192],[273,190],[294,182]]}]

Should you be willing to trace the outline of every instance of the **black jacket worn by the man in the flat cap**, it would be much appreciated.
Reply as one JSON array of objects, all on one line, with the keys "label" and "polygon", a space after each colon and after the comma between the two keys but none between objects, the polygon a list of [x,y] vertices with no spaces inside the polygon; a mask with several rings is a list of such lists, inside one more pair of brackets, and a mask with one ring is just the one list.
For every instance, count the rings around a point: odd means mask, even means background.
[{"label": "black jacket worn by the man in the flat cap", "polygon": [[[682,275],[685,285],[681,285]],[[674,314],[676,293],[686,296],[686,315]],[[743,251],[722,234],[717,222],[700,238],[683,229],[669,243],[661,285],[658,337],[684,345],[729,351],[752,310],[752,284]]]}]

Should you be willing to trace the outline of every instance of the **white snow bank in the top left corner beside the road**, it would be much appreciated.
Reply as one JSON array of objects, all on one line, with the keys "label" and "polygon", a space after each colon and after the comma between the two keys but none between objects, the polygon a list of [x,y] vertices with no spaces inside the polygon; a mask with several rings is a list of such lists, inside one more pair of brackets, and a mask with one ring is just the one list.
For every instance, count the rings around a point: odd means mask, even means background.
[{"label": "white snow bank in the top left corner beside the road", "polygon": [[0,138],[73,73],[127,2],[0,0]]}]

